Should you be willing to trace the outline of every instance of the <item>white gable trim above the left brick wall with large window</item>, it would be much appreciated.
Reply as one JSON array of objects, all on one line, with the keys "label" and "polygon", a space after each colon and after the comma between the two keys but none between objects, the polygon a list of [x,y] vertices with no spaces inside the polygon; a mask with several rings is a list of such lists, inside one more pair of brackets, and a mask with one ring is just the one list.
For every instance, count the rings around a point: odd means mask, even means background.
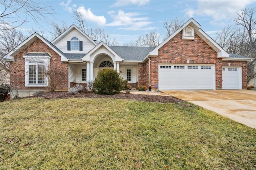
[{"label": "white gable trim above the left brick wall with large window", "polygon": [[6,61],[14,61],[14,56],[17,55],[20,51],[28,47],[32,42],[36,41],[37,39],[42,40],[42,42],[46,43],[52,50],[54,50],[56,53],[58,53],[61,57],[61,61],[68,61],[66,56],[60,49],[58,49],[55,45],[53,45],[51,42],[46,40],[44,37],[40,36],[36,32],[32,34],[30,37],[28,37],[24,42],[20,43],[17,47],[15,47],[12,51],[10,51],[8,54],[6,54],[2,59]]}]

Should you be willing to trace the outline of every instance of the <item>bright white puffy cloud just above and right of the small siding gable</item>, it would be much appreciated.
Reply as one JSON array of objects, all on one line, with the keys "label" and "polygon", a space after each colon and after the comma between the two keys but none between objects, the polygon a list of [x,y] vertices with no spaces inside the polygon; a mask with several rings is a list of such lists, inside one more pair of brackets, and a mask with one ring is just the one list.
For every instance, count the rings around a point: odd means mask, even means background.
[{"label": "bright white puffy cloud just above and right of the small siding gable", "polygon": [[104,16],[96,16],[94,15],[90,8],[86,10],[84,6],[80,6],[77,10],[77,12],[80,12],[83,15],[83,18],[90,22],[95,22],[98,26],[104,26],[106,24],[106,18]]}]

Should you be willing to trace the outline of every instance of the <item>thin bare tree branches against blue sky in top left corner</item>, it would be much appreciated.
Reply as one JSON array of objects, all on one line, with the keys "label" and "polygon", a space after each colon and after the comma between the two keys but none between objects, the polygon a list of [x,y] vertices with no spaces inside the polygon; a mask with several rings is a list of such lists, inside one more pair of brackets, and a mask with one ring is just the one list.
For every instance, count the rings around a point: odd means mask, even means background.
[{"label": "thin bare tree branches against blue sky in top left corner", "polygon": [[48,22],[49,15],[55,14],[51,4],[34,0],[1,0],[0,5],[0,30],[15,29],[30,19],[41,25],[42,21]]}]

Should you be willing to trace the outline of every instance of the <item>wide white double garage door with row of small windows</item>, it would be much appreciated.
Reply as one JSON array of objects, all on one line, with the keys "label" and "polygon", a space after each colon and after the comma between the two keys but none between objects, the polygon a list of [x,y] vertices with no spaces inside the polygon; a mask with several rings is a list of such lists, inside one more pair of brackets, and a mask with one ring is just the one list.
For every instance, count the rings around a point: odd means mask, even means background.
[{"label": "wide white double garage door with row of small windows", "polygon": [[215,89],[215,65],[159,64],[159,90]]}]

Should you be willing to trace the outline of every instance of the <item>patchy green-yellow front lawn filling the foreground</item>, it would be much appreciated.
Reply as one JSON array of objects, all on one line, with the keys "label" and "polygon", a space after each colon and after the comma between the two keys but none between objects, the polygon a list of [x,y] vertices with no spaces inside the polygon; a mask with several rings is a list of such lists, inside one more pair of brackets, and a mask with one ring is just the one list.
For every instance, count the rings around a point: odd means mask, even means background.
[{"label": "patchy green-yellow front lawn filling the foreground", "polygon": [[256,129],[191,103],[0,103],[0,169],[256,169]]}]

